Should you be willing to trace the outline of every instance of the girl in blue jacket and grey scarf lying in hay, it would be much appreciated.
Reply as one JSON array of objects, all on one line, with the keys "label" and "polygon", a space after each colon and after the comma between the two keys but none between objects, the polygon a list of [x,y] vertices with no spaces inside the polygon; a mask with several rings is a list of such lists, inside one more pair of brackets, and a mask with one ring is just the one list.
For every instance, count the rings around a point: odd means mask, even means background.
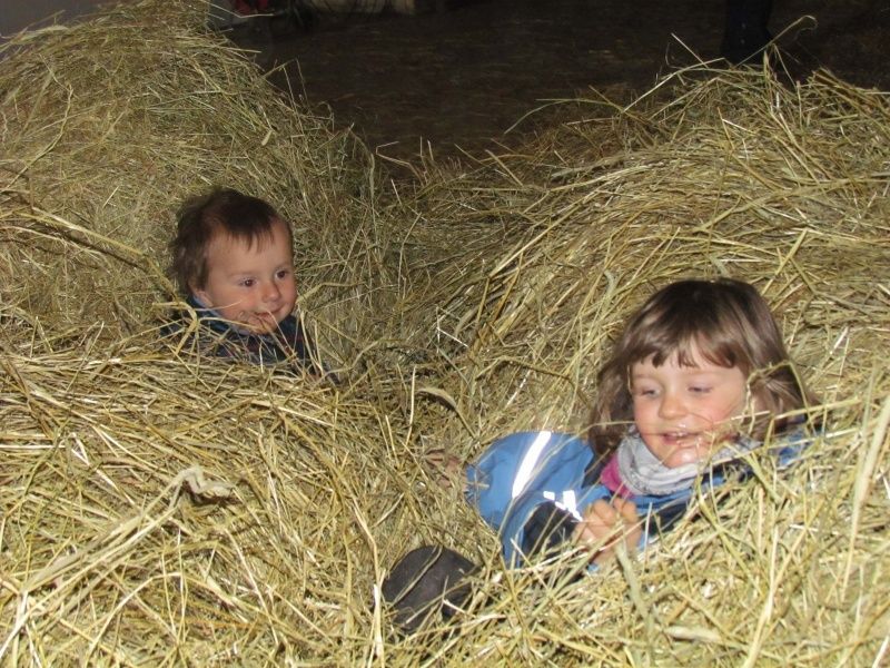
[{"label": "girl in blue jacket and grey scarf lying in hay", "polygon": [[[792,462],[804,434],[787,414],[811,401],[754,287],[681,281],[643,305],[601,367],[587,440],[545,431],[495,441],[466,469],[465,494],[498,531],[508,566],[568,547],[600,564],[672,527],[696,488],[749,474],[741,458],[768,430],[781,434],[779,464]],[[443,550],[421,548],[419,567],[393,570],[384,593],[399,622],[422,619],[472,572],[464,562],[453,572]],[[412,599],[419,586],[435,600]]]}]

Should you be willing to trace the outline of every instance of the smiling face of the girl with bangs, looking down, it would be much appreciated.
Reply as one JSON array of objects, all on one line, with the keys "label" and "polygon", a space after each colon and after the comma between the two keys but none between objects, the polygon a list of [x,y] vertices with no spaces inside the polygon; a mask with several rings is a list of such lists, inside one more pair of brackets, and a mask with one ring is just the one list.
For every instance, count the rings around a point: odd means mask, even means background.
[{"label": "smiling face of the girl with bangs, looking down", "polygon": [[676,355],[631,367],[633,419],[646,448],[669,468],[708,458],[738,432],[746,379],[738,366],[718,366],[692,351],[694,366]]}]

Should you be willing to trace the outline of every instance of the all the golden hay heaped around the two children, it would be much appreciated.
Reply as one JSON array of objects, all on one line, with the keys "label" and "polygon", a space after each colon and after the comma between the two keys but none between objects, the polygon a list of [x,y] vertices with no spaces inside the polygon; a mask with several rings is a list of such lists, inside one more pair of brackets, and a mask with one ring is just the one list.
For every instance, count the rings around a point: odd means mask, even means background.
[{"label": "all the golden hay heaped around the two children", "polygon": [[[888,660],[886,94],[678,72],[396,187],[202,20],[150,0],[0,53],[6,662]],[[174,212],[209,184],[294,222],[339,385],[159,345]],[[720,275],[774,306],[823,436],[637,560],[505,572],[424,453],[582,431],[626,315]],[[404,637],[377,591],[422,542],[485,568],[451,625]]]}]

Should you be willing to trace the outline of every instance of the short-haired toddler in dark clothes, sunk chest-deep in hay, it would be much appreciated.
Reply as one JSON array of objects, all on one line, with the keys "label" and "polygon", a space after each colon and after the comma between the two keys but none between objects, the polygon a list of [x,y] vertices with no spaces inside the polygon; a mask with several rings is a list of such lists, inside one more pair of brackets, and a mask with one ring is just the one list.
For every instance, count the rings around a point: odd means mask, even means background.
[{"label": "short-haired toddler in dark clothes, sunk chest-deep in hay", "polygon": [[[290,225],[271,205],[230,188],[188,199],[170,249],[172,273],[198,316],[202,351],[318,371],[293,314],[297,286]],[[168,330],[185,326],[181,322]]]}]

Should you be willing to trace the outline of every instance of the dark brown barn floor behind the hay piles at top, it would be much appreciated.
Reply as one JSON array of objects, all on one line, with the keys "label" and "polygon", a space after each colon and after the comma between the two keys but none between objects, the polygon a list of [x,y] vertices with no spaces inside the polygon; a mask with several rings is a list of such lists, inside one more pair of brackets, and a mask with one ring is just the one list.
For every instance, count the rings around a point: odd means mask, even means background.
[{"label": "dark brown barn floor behind the hay piles at top", "polygon": [[[328,104],[379,155],[412,160],[424,147],[438,159],[479,155],[542,100],[592,97],[590,87],[632,99],[660,73],[716,57],[723,20],[716,0],[475,0],[308,31],[278,20],[233,37],[264,68],[284,65],[277,85]],[[886,0],[775,0],[770,28],[793,77],[821,66],[890,90]]]}]

